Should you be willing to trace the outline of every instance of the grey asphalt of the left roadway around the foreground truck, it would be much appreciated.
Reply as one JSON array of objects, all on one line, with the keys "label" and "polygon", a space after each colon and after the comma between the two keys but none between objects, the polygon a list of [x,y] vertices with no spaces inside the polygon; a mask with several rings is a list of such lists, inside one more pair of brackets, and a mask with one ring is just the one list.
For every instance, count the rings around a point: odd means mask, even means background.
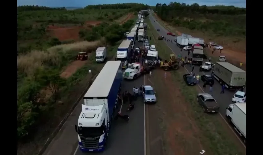
[{"label": "grey asphalt of the left roadway around the foreground truck", "polygon": [[[143,46],[143,44],[136,42],[136,47],[137,46]],[[141,76],[134,81],[127,81],[123,79],[121,93],[123,91],[130,91],[132,93],[132,88],[134,86],[140,87],[140,85],[144,84],[143,78],[144,77]],[[118,119],[113,122],[106,150],[99,154],[144,155],[144,103],[142,98],[134,101],[134,103],[135,108],[131,112],[127,112],[128,104],[123,104],[121,113],[128,114],[130,116],[130,120],[129,122],[125,122],[122,119]],[[78,147],[77,133],[75,132],[75,124],[77,123],[81,112],[81,104],[84,104],[83,100],[81,100],[79,105],[74,109],[67,122],[46,149],[44,155],[86,154],[80,151]]]}]

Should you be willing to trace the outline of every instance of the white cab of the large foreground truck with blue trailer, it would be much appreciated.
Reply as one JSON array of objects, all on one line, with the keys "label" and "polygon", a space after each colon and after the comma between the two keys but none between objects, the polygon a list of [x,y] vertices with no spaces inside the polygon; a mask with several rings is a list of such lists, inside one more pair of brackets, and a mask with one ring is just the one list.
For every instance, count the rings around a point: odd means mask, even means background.
[{"label": "white cab of the large foreground truck with blue trailer", "polygon": [[[79,146],[82,151],[101,151],[108,137],[109,116],[106,105],[87,106],[82,104],[78,124],[75,131],[78,133]],[[98,148],[97,148],[98,143]]]}]

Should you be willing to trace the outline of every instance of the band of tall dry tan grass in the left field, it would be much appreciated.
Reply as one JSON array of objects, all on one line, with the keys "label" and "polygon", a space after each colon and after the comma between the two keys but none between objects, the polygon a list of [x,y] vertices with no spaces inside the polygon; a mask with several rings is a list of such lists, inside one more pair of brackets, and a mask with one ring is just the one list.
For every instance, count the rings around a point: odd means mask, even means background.
[{"label": "band of tall dry tan grass in the left field", "polygon": [[46,51],[31,51],[17,57],[17,69],[27,76],[43,66],[60,66],[75,58],[78,52],[92,52],[104,44],[104,39],[94,42],[76,42],[50,47]]}]

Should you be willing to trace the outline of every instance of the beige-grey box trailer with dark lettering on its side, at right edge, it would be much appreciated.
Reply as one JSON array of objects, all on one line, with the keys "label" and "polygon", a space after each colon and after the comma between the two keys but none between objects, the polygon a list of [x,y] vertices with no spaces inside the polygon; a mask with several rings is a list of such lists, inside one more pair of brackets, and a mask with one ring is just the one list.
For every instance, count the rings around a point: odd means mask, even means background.
[{"label": "beige-grey box trailer with dark lettering on its side, at right edge", "polygon": [[228,62],[216,62],[213,77],[229,90],[238,90],[246,84],[246,71]]}]

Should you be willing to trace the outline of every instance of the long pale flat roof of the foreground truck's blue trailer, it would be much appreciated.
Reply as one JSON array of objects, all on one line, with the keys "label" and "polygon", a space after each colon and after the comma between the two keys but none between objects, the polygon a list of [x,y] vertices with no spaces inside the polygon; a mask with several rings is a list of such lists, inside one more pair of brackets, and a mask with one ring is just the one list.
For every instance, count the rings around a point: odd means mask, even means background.
[{"label": "long pale flat roof of the foreground truck's blue trailer", "polygon": [[108,61],[84,97],[108,97],[121,61]]}]

